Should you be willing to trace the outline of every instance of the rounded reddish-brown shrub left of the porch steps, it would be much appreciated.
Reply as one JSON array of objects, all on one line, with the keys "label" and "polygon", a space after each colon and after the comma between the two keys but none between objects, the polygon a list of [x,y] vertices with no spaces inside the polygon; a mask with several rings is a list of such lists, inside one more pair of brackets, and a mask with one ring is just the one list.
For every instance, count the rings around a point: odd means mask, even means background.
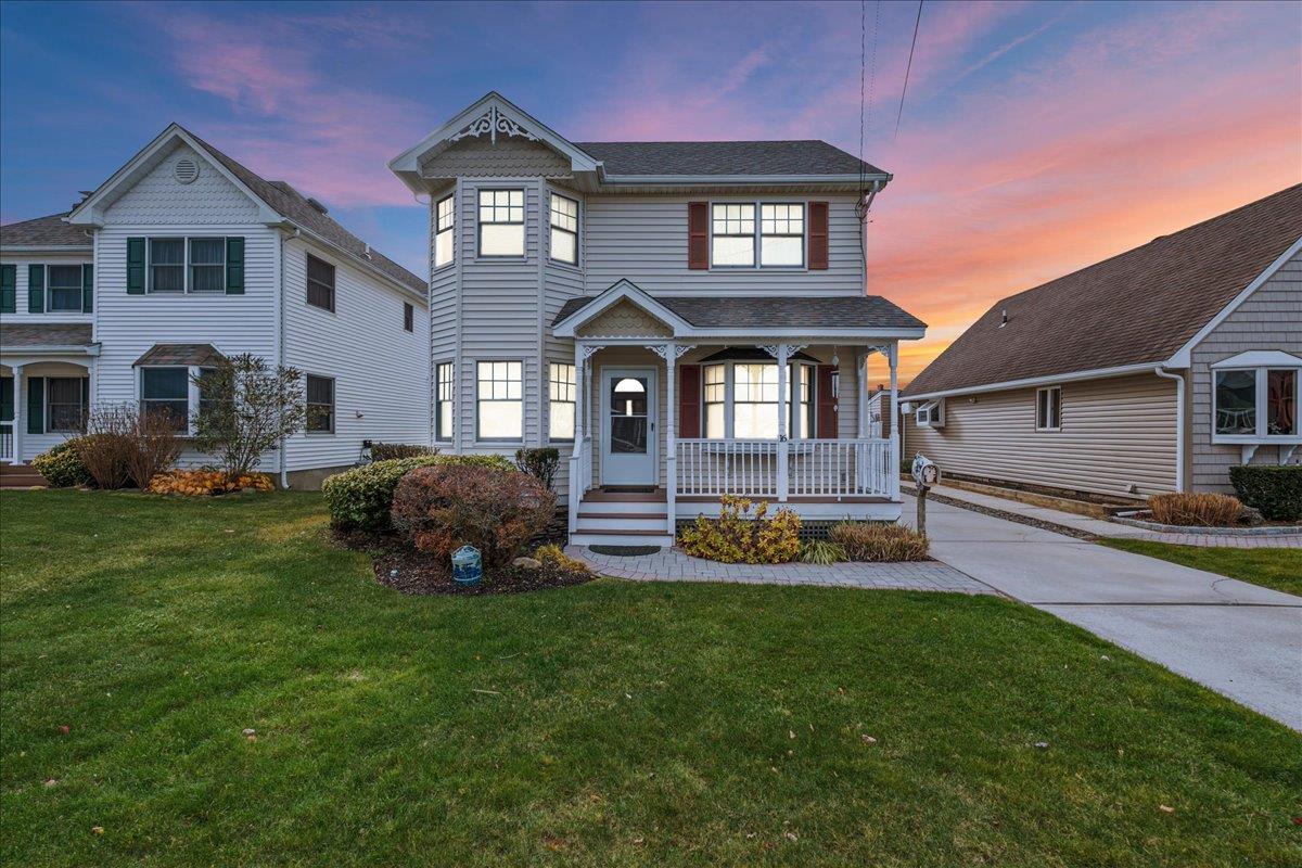
[{"label": "rounded reddish-brown shrub left of the porch steps", "polygon": [[393,527],[436,560],[462,545],[486,566],[509,563],[551,522],[556,495],[518,470],[477,466],[418,467],[393,492]]}]

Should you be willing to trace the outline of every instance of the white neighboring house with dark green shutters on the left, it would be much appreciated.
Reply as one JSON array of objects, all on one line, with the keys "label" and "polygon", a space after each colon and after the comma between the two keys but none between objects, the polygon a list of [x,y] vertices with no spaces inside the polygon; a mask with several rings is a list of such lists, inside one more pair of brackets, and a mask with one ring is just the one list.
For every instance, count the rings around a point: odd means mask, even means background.
[{"label": "white neighboring house with dark green shutters on the left", "polygon": [[354,465],[365,440],[424,444],[426,289],[173,124],[69,213],[0,228],[0,459],[77,433],[92,405],[189,416],[191,375],[240,353],[306,376],[311,429],[262,467],[293,485]]}]

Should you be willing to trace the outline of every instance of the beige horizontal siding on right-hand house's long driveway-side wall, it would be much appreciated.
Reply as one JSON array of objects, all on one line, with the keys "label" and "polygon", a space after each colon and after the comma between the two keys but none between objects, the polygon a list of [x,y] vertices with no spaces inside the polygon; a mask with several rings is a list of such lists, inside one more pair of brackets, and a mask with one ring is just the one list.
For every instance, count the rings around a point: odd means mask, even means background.
[{"label": "beige horizontal siding on right-hand house's long driveway-side wall", "polygon": [[1142,497],[1173,489],[1173,381],[1143,373],[1061,389],[1061,431],[1035,429],[1032,388],[971,396],[975,402],[950,396],[943,428],[905,418],[902,454],[922,452],[945,474],[1066,491]]}]

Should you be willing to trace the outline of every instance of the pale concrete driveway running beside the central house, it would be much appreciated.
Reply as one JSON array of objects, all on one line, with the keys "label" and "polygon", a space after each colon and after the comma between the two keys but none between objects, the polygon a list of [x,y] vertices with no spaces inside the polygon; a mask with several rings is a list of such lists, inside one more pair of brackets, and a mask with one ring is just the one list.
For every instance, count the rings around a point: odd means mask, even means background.
[{"label": "pale concrete driveway running beside the central house", "polygon": [[935,501],[927,531],[949,566],[1302,731],[1302,597]]}]

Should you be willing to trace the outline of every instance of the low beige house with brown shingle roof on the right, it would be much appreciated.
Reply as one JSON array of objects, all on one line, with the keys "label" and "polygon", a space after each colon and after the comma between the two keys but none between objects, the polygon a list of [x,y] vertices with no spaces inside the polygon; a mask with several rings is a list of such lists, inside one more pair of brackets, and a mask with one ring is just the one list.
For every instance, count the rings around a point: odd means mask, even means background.
[{"label": "low beige house with brown shingle roof on the right", "polygon": [[1302,185],[995,303],[904,397],[947,474],[1108,496],[1295,463]]}]

